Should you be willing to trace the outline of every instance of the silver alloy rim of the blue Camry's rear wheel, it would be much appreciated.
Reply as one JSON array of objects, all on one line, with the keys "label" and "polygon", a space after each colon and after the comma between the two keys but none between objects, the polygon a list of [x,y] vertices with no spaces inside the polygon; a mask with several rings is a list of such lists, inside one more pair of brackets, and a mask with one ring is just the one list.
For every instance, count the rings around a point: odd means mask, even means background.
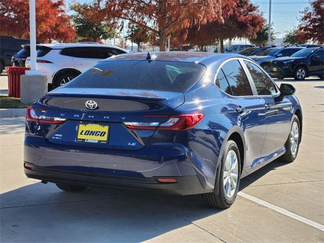
[{"label": "silver alloy rim of the blue Camry's rear wheel", "polygon": [[236,153],[233,150],[229,150],[223,171],[224,191],[227,197],[233,196],[236,190],[238,176],[237,163]]}]

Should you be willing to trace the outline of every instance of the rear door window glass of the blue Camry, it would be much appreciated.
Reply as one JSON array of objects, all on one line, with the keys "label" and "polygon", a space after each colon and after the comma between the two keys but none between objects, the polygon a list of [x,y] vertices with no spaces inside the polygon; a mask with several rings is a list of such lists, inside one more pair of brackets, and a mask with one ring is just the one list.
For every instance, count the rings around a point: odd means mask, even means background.
[{"label": "rear door window glass of the blue Camry", "polygon": [[225,63],[222,67],[233,96],[251,96],[249,79],[238,60]]}]

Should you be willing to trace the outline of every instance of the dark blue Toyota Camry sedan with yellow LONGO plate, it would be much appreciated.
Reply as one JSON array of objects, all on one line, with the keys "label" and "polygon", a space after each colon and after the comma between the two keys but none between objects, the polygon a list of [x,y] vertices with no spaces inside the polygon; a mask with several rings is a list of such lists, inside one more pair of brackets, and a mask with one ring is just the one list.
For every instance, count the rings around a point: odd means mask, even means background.
[{"label": "dark blue Toyota Camry sedan with yellow LONGO plate", "polygon": [[24,172],[65,191],[203,194],[228,208],[241,178],[296,158],[294,92],[237,54],[115,56],[28,107]]}]

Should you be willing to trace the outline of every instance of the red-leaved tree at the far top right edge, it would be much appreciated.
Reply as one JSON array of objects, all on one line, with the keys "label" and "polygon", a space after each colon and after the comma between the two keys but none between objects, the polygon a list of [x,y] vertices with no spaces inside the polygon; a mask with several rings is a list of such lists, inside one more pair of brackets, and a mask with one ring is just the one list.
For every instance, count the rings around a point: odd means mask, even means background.
[{"label": "red-leaved tree at the far top right edge", "polygon": [[310,3],[310,8],[303,12],[298,26],[299,41],[307,42],[312,40],[318,44],[324,43],[324,0],[315,0]]}]

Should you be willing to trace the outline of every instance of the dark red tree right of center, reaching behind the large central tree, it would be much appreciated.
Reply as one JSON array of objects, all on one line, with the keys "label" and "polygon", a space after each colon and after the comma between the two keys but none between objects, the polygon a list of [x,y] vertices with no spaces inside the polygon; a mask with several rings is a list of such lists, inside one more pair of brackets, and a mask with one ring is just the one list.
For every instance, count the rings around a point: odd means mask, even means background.
[{"label": "dark red tree right of center, reaching behind the large central tree", "polygon": [[224,22],[214,20],[205,25],[195,25],[187,31],[186,42],[199,47],[214,44],[219,41],[221,52],[224,52],[223,40],[236,37],[255,37],[263,27],[265,19],[259,12],[258,6],[250,0],[233,0],[235,6],[222,7]]}]

